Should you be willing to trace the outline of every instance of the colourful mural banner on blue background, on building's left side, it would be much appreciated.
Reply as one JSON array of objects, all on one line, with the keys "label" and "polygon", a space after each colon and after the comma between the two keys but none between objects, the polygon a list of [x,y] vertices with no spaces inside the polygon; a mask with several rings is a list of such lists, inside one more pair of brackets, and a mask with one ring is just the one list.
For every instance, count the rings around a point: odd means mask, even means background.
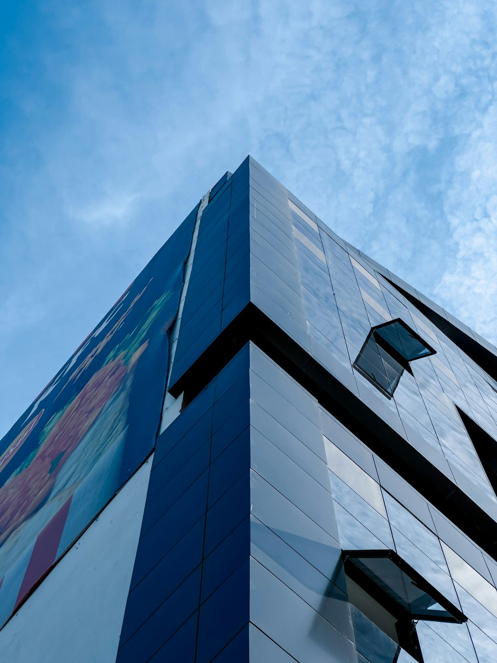
[{"label": "colourful mural banner on blue background, on building's left side", "polygon": [[0,442],[0,625],[154,448],[191,217]]}]

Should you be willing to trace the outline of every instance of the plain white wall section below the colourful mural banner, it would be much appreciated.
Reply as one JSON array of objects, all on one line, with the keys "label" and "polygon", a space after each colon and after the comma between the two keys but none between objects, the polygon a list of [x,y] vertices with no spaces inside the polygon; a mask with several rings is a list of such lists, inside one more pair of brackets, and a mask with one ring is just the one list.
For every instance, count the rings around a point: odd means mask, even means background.
[{"label": "plain white wall section below the colourful mural banner", "polygon": [[152,457],[0,631],[9,663],[112,663],[128,597]]}]

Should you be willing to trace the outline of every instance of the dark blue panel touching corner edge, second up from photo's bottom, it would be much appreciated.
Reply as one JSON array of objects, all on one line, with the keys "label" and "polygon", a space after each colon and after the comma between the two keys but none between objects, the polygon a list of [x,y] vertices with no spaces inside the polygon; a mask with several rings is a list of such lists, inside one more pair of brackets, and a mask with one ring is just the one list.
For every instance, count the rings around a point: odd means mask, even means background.
[{"label": "dark blue panel touching corner edge, second up from photo's bottom", "polygon": [[249,621],[249,560],[247,559],[201,605],[197,663],[208,663]]}]

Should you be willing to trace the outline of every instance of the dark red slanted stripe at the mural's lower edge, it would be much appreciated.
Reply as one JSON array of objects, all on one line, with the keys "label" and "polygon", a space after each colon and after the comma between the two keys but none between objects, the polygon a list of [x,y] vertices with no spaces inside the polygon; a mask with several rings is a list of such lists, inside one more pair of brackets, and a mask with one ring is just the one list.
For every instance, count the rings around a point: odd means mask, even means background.
[{"label": "dark red slanted stripe at the mural's lower edge", "polygon": [[69,507],[71,505],[72,495],[60,509],[52,520],[48,522],[38,534],[33,551],[29,558],[28,568],[23,578],[21,589],[17,595],[14,610],[25,599],[28,592],[34,587],[36,582],[46,573],[54,564],[57,550],[68,517]]}]

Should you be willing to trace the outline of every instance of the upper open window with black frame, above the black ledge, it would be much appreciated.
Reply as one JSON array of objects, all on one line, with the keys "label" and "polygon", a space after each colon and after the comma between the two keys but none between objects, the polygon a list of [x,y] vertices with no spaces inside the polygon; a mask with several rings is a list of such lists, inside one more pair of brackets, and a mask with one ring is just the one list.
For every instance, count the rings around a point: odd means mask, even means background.
[{"label": "upper open window with black frame, above the black ledge", "polygon": [[353,366],[387,398],[392,398],[410,362],[434,355],[435,350],[398,318],[373,327]]}]

